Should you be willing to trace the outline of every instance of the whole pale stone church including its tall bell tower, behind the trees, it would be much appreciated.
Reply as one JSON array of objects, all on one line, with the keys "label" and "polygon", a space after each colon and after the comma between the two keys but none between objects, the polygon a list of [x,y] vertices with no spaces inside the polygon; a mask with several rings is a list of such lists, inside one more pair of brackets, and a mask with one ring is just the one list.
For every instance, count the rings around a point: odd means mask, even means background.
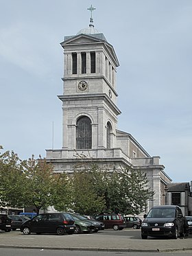
[{"label": "whole pale stone church including its tall bell tower, behind the trees", "polygon": [[147,209],[165,204],[165,187],[171,183],[160,156],[150,156],[130,133],[117,128],[119,61],[114,47],[93,25],[60,43],[64,49],[62,102],[62,148],[46,150],[46,160],[54,172],[73,172],[84,154],[84,161],[97,163],[110,170],[120,167],[141,170],[147,174],[149,187],[155,191]]}]

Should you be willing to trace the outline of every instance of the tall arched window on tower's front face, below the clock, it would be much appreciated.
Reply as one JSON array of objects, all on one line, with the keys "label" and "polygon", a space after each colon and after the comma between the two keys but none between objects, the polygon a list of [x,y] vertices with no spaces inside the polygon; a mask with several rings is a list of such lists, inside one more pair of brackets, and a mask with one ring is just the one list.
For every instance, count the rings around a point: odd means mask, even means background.
[{"label": "tall arched window on tower's front face, below the clock", "polygon": [[92,130],[91,120],[88,117],[77,119],[76,128],[76,148],[91,149],[92,147]]}]

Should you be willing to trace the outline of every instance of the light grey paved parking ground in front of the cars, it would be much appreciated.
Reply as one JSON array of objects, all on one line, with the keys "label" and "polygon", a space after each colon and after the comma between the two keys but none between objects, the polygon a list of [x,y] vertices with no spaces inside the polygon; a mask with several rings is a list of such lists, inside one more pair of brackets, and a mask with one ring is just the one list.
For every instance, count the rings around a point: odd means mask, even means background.
[{"label": "light grey paved parking ground in front of the cars", "polygon": [[[19,230],[0,231],[0,248],[36,248],[73,251],[170,252],[192,251],[192,235],[177,240],[169,238],[140,238],[141,231],[99,231],[93,234],[23,235]],[[116,235],[117,234],[117,235]]]}]

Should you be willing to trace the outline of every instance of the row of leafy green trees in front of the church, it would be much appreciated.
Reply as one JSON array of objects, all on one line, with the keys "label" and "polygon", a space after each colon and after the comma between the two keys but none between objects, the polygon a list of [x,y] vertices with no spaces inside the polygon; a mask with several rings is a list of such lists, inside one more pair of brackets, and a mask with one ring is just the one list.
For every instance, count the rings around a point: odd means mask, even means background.
[{"label": "row of leafy green trees in front of the church", "polygon": [[[84,154],[73,174],[56,174],[45,159],[21,161],[14,152],[0,154],[0,200],[2,206],[30,207],[36,212],[49,206],[80,214],[101,212],[138,214],[154,192],[141,170],[109,171],[99,168]],[[104,170],[105,169],[105,170]]]}]

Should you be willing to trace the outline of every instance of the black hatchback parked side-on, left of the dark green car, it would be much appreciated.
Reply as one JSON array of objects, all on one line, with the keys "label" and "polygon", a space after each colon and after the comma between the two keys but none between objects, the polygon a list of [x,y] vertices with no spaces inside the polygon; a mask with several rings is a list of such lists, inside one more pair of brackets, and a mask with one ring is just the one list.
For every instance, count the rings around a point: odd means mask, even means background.
[{"label": "black hatchback parked side-on, left of the dark green car", "polygon": [[21,225],[24,235],[30,233],[75,233],[75,221],[69,213],[42,213]]}]

